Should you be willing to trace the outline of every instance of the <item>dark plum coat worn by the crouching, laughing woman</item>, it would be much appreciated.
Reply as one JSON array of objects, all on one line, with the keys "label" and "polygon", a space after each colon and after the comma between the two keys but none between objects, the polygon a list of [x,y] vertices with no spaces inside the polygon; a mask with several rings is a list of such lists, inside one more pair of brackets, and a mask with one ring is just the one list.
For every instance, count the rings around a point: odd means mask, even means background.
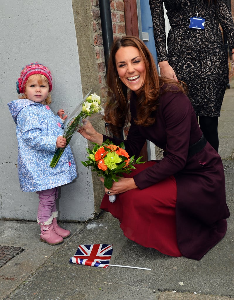
[{"label": "dark plum coat worn by the crouching, laughing woman", "polygon": [[[163,89],[162,89],[163,91]],[[134,123],[136,95],[130,100],[131,127],[124,141],[130,157],[138,156],[146,140],[164,150],[164,158],[135,175],[142,190],[169,176],[177,184],[176,235],[179,250],[191,259],[201,259],[226,233],[229,209],[226,205],[223,164],[207,142],[188,157],[190,146],[202,137],[193,107],[182,92],[164,92],[159,99],[155,124]],[[107,136],[104,136],[106,140]],[[116,145],[118,139],[110,139]]]}]

